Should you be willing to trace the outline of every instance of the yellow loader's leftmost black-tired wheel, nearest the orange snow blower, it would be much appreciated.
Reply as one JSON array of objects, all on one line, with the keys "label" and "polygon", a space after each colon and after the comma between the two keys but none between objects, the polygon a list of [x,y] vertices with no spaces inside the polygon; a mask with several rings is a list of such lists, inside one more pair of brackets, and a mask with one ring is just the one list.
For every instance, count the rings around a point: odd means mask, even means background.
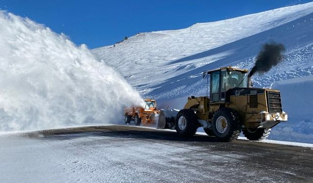
[{"label": "yellow loader's leftmost black-tired wheel, nearest the orange snow blower", "polygon": [[175,128],[183,137],[192,137],[198,128],[198,117],[191,109],[182,109],[176,117]]}]

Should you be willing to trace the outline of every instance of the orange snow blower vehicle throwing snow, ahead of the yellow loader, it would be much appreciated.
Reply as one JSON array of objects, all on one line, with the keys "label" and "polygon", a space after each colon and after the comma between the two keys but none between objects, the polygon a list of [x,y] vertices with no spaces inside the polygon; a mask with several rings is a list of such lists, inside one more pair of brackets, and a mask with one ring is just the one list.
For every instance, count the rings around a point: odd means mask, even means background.
[{"label": "orange snow blower vehicle throwing snow, ahead of the yellow loader", "polygon": [[[161,125],[165,126],[164,112],[157,110],[156,100],[145,99],[145,107],[131,106],[124,109],[125,123],[134,121],[135,125]],[[162,127],[164,128],[164,127]]]}]

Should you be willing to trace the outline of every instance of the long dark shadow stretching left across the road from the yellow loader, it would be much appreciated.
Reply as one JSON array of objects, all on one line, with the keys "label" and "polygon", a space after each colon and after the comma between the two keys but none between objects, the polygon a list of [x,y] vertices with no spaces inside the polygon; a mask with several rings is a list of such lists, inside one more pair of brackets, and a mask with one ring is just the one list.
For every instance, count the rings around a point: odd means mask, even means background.
[{"label": "long dark shadow stretching left across the road from the yellow loader", "polygon": [[64,128],[52,130],[40,130],[22,134],[23,137],[41,140],[69,140],[84,137],[116,137],[125,139],[149,139],[179,142],[219,142],[215,137],[195,135],[191,138],[181,137],[176,132],[161,131],[152,128],[141,128],[126,125],[112,126],[88,126],[77,128]]}]

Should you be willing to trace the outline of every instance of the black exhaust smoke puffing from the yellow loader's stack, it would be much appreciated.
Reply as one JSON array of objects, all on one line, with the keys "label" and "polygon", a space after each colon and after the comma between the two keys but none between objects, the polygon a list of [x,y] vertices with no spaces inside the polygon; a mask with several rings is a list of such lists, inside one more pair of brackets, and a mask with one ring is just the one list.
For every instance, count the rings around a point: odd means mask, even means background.
[{"label": "black exhaust smoke puffing from the yellow loader's stack", "polygon": [[281,43],[266,43],[263,45],[262,50],[256,57],[256,61],[248,77],[255,73],[268,72],[273,66],[282,61],[282,52],[285,51],[285,46]]}]

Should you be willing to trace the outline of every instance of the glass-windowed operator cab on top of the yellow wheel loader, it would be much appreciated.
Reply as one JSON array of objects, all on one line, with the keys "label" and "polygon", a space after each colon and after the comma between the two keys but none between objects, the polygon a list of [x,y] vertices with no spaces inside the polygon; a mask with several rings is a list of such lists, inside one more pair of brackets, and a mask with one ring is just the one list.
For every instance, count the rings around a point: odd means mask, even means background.
[{"label": "glass-windowed operator cab on top of the yellow wheel loader", "polygon": [[210,102],[225,102],[226,91],[247,87],[248,70],[223,67],[208,71],[210,74]]}]

